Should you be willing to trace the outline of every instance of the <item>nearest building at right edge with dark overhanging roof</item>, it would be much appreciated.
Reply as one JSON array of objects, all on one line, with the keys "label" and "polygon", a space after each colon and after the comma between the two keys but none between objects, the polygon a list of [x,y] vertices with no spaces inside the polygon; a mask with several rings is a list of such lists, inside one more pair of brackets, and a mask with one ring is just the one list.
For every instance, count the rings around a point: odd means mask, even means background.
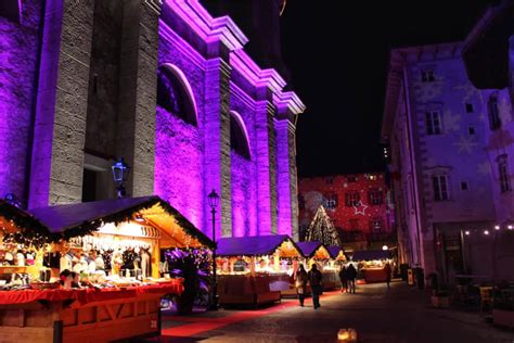
[{"label": "nearest building at right edge with dark overhanging roof", "polygon": [[513,21],[514,2],[501,1],[489,8],[466,37],[462,53],[467,76],[487,104],[486,149],[497,214],[497,226],[487,238],[479,234],[484,232],[465,236],[465,255],[473,253],[473,245],[488,247],[497,280],[514,277]]}]

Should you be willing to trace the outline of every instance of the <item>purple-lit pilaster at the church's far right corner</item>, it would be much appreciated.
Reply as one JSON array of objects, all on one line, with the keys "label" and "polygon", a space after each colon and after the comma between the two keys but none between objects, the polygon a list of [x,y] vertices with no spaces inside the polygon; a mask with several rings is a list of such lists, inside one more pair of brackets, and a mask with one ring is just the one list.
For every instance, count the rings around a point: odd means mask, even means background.
[{"label": "purple-lit pilaster at the church's far right corner", "polygon": [[298,240],[295,126],[288,119],[280,119],[275,122],[275,131],[279,233]]}]

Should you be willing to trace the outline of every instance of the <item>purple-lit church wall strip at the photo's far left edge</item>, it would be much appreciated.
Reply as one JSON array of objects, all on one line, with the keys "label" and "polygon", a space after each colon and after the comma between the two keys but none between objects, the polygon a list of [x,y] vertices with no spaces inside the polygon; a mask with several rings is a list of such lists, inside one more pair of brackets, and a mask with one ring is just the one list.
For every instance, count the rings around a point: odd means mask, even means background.
[{"label": "purple-lit church wall strip at the photo's far left edge", "polygon": [[0,198],[12,192],[24,203],[40,13],[40,1],[30,0],[21,23],[0,16]]}]

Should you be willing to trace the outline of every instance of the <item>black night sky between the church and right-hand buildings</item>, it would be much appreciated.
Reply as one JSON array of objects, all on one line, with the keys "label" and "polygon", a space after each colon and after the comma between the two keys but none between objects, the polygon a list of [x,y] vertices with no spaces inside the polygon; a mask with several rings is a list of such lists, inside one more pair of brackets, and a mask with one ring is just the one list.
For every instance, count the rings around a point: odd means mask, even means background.
[{"label": "black night sky between the church and right-hand buildings", "polygon": [[283,58],[307,105],[298,175],[382,170],[381,120],[390,48],[465,39],[487,0],[288,0]]}]

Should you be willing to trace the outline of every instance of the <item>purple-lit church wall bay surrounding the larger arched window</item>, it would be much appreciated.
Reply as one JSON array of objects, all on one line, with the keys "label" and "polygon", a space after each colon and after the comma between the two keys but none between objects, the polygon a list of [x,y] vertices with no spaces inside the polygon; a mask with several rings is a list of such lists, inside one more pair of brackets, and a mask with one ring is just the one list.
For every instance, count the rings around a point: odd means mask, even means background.
[{"label": "purple-lit church wall bay surrounding the larger arched window", "polygon": [[[160,24],[163,25],[163,23]],[[160,27],[160,31],[165,29]],[[197,126],[157,106],[155,134],[155,194],[169,201],[198,228],[204,227],[204,140],[203,140],[203,71],[184,51],[192,48],[171,31],[160,35],[159,65],[179,71],[189,87],[184,87],[196,103]],[[208,230],[204,230],[208,232]]]}]

